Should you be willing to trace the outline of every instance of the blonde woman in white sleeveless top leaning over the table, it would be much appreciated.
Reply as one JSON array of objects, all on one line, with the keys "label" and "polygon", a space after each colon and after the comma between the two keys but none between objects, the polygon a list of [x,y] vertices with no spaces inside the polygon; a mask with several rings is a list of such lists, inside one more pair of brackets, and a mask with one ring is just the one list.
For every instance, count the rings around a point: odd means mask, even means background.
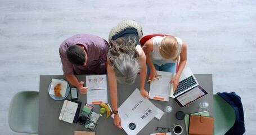
[{"label": "blonde woman in white sleeveless top leaning over the table", "polygon": [[169,36],[156,36],[144,44],[143,51],[146,55],[146,61],[149,71],[149,80],[154,81],[158,77],[156,70],[176,72],[177,60],[180,56],[178,72],[170,83],[173,83],[173,89],[176,90],[179,84],[179,77],[187,62],[187,46],[180,38]]}]

